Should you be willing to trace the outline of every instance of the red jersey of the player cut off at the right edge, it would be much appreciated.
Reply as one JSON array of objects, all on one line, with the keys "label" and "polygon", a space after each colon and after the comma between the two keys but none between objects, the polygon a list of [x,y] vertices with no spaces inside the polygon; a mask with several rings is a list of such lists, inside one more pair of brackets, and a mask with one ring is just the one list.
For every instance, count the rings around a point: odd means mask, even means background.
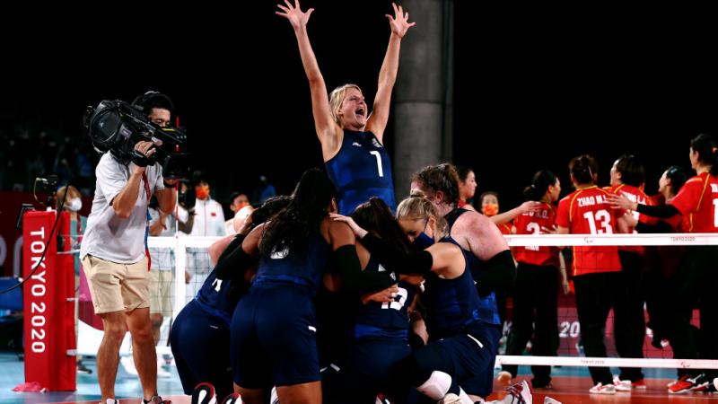
[{"label": "red jersey of the player cut off at the right edge", "polygon": [[718,233],[718,177],[703,172],[687,180],[670,200],[687,218],[688,233]]}]

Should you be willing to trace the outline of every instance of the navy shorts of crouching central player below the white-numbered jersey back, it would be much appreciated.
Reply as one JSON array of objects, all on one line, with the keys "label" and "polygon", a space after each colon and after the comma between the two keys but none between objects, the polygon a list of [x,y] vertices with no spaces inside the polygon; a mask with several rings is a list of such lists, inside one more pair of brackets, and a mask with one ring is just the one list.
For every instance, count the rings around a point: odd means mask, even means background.
[{"label": "navy shorts of crouching central player below the white-numbered jersey back", "polygon": [[413,389],[398,382],[398,365],[411,355],[407,341],[364,340],[347,343],[345,355],[322,373],[325,403],[374,403],[379,393],[407,402]]}]

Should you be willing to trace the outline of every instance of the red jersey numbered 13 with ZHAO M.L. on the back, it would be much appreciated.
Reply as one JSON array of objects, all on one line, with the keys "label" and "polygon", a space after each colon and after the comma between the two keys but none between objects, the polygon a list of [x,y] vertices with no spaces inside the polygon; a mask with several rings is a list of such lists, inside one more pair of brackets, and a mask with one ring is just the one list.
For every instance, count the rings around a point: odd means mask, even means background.
[{"label": "red jersey numbered 13 with ZHAO M.L. on the back", "polygon": [[[616,218],[623,210],[611,209],[609,192],[597,186],[576,189],[561,199],[556,212],[556,225],[566,227],[572,234],[616,233]],[[574,246],[574,277],[597,272],[621,270],[617,246]]]}]

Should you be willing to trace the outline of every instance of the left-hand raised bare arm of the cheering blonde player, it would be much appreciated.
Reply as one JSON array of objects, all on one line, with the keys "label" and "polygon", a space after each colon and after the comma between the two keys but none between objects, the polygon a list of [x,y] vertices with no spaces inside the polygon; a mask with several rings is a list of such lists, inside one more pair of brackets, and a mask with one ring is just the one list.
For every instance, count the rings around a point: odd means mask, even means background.
[{"label": "left-hand raised bare arm of the cheering blonde player", "polygon": [[320,72],[320,66],[317,63],[317,57],[314,56],[314,50],[311,49],[309,34],[307,33],[307,22],[313,8],[302,12],[299,0],[294,0],[294,5],[285,0],[285,5],[277,4],[282,12],[276,12],[292,23],[294,35],[297,37],[297,45],[299,46],[299,54],[302,57],[302,66],[304,73],[309,80],[311,90],[311,113],[314,116],[314,128],[317,136],[320,138],[321,153],[324,160],[327,161],[334,154],[337,154],[341,145],[341,128],[331,118],[331,110],[329,110],[329,97],[327,94],[327,84],[324,83],[324,77]]}]

